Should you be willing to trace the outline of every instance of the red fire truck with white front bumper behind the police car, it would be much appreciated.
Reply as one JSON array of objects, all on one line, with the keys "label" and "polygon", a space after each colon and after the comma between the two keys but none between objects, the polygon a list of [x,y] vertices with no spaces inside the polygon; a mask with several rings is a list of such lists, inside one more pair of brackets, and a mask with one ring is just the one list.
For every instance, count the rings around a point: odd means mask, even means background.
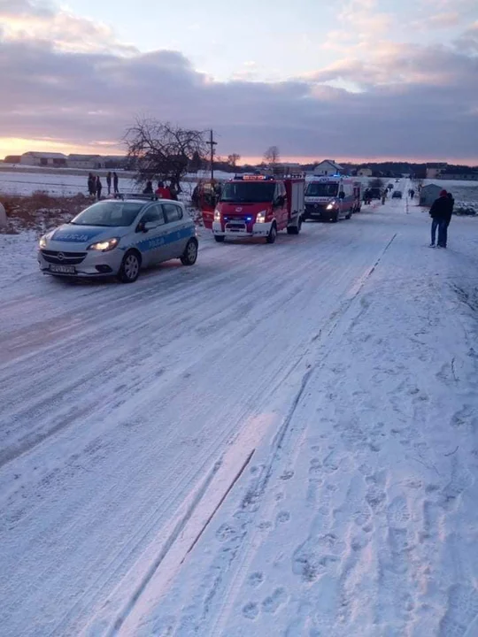
[{"label": "red fire truck with white front bumper behind the police car", "polygon": [[226,237],[264,237],[274,243],[277,233],[299,234],[305,211],[304,176],[243,174],[227,181],[214,211],[212,233]]}]

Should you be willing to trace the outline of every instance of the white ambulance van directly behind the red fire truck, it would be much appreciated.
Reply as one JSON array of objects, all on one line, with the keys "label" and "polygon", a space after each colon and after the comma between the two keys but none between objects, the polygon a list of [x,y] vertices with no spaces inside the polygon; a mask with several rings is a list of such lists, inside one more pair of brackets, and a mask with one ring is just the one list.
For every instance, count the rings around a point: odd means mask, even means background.
[{"label": "white ambulance van directly behind the red fire truck", "polygon": [[304,219],[337,222],[360,211],[360,182],[334,175],[314,177],[305,189]]}]

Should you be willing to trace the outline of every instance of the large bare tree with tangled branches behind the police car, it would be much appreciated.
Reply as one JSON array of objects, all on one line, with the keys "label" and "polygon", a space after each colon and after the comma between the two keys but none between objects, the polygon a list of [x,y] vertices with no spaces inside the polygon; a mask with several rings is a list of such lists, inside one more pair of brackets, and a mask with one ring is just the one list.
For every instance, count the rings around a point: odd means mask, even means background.
[{"label": "large bare tree with tangled branches behind the police car", "polygon": [[205,157],[201,131],[173,126],[156,119],[136,119],[124,136],[127,157],[135,166],[136,181],[168,180],[181,192],[181,179],[192,157]]}]

